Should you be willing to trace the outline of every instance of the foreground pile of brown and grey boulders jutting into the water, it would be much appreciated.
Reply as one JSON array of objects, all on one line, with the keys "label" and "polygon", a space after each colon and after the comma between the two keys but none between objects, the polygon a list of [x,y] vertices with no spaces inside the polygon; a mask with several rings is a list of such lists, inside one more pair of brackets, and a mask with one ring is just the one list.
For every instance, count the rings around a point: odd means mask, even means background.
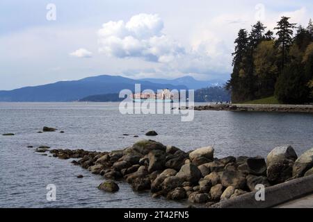
[{"label": "foreground pile of brown and grey boulders jutting into the water", "polygon": [[[40,147],[45,153],[49,147]],[[184,152],[153,140],[141,140],[111,152],[83,149],[49,151],[61,160],[76,158],[72,164],[88,169],[106,180],[98,189],[119,190],[115,180],[125,180],[134,191],[150,191],[153,198],[188,200],[191,205],[211,207],[233,199],[258,184],[271,187],[313,174],[313,148],[298,157],[291,146],[278,146],[264,157],[214,157],[212,146]],[[77,178],[83,178],[79,175]]]}]

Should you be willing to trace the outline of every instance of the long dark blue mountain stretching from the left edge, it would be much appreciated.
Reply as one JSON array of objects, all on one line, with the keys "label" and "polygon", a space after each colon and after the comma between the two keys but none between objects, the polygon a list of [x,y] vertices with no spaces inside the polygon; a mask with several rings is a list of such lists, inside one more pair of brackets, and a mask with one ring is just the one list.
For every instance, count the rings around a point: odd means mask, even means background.
[{"label": "long dark blue mountain stretching from the left edge", "polygon": [[0,101],[8,102],[58,102],[77,101],[83,97],[97,94],[119,93],[122,89],[134,91],[135,83],[141,84],[141,90],[186,89],[184,85],[151,83],[147,80],[134,80],[122,76],[93,76],[81,80],[60,81],[47,85],[22,87],[9,91],[0,91]]}]

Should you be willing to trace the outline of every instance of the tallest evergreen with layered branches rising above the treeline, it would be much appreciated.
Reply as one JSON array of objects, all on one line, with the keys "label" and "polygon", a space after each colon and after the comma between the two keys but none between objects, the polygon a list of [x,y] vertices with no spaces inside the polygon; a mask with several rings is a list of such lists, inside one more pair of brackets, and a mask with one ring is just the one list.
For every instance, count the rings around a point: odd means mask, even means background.
[{"label": "tallest evergreen with layered branches rising above the treeline", "polygon": [[278,26],[275,28],[277,31],[276,35],[278,35],[278,46],[281,48],[282,52],[282,69],[284,68],[285,62],[287,61],[287,55],[289,51],[289,47],[292,43],[292,35],[294,34],[293,29],[296,27],[296,24],[290,23],[288,20],[290,17],[282,17],[280,22],[278,22]]}]

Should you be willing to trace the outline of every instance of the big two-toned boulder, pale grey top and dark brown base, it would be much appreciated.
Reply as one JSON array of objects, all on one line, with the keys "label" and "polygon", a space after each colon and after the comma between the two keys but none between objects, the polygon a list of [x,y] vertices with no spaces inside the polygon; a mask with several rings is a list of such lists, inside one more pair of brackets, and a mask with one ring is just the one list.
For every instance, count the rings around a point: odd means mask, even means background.
[{"label": "big two-toned boulder, pale grey top and dark brown base", "polygon": [[277,146],[266,157],[267,177],[273,184],[284,182],[292,177],[292,167],[297,159],[291,146]]}]

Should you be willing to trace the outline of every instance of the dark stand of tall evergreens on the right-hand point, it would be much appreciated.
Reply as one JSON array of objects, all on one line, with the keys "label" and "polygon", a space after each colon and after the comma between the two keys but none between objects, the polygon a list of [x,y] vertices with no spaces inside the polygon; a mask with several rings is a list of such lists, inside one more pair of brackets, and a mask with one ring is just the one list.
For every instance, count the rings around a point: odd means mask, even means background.
[{"label": "dark stand of tall evergreens on the right-hand point", "polygon": [[[305,28],[282,17],[273,31],[262,22],[235,40],[233,71],[226,88],[232,102],[273,96],[280,103],[313,101],[313,24]],[[295,32],[294,32],[295,31]]]}]

